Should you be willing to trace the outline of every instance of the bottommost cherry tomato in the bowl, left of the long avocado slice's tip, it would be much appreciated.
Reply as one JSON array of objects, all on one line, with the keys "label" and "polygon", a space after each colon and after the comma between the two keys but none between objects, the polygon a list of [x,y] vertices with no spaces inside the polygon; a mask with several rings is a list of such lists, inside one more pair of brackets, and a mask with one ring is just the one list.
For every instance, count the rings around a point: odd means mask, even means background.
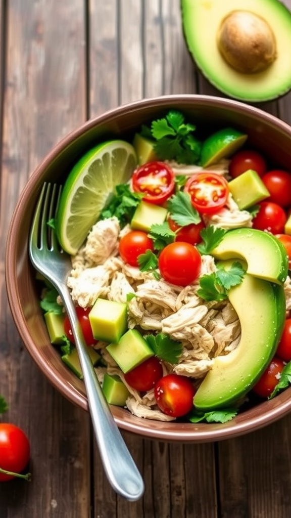
[{"label": "bottommost cherry tomato in the bowl, left of the long avocado slice's tip", "polygon": [[164,414],[179,418],[193,408],[194,386],[186,376],[168,374],[155,385],[157,406]]}]

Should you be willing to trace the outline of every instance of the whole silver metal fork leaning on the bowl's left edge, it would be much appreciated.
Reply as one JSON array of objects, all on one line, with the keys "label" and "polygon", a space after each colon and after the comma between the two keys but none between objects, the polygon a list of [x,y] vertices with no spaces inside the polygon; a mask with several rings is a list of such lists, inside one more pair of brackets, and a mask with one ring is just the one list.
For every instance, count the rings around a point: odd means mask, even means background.
[{"label": "whole silver metal fork leaning on the bowl's left edge", "polygon": [[143,494],[143,480],[113,419],[87,352],[75,307],[66,285],[66,279],[71,270],[70,257],[61,250],[55,232],[48,225],[48,221],[55,216],[61,189],[56,184],[43,184],[31,227],[30,258],[36,270],[45,276],[59,292],[69,316],[80,358],[96,440],[107,478],[117,493],[127,500],[134,501]]}]

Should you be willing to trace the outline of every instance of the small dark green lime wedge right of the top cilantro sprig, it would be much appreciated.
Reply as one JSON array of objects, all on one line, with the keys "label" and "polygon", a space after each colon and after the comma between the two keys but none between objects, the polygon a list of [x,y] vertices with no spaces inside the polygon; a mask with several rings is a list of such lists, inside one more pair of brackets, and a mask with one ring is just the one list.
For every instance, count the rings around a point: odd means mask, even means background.
[{"label": "small dark green lime wedge right of the top cilantro sprig", "polygon": [[213,133],[202,144],[201,165],[208,167],[221,159],[227,158],[235,153],[247,138],[248,135],[233,128],[224,128]]}]

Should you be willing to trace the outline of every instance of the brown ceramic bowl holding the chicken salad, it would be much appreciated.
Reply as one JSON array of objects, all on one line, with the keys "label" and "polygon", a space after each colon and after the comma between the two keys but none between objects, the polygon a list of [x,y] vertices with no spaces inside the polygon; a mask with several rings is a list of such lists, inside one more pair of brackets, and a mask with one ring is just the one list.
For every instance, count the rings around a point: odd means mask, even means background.
[{"label": "brown ceramic bowl holding the chicken salad", "polygon": [[[7,241],[6,284],[13,319],[28,353],[52,385],[75,405],[88,408],[83,383],[63,364],[51,346],[39,307],[35,273],[27,252],[34,206],[44,181],[63,182],[85,150],[107,137],[131,138],[141,123],[161,117],[169,108],[186,112],[197,124],[214,131],[233,125],[248,133],[249,143],[282,168],[291,160],[291,127],[264,111],[235,100],[200,95],[144,99],[113,109],[83,124],[57,144],[27,182],[11,220]],[[162,423],[137,418],[112,407],[120,428],[159,440],[206,442],[236,437],[274,422],[291,410],[291,388],[272,400],[246,410],[226,424]]]}]

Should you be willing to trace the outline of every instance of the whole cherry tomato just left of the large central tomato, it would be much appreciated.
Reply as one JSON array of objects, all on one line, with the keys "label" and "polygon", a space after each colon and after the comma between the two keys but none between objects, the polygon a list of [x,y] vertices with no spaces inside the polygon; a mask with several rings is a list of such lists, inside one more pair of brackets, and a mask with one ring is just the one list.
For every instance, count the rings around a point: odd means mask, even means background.
[{"label": "whole cherry tomato just left of the large central tomato", "polygon": [[147,250],[153,251],[153,241],[146,232],[133,230],[125,234],[119,242],[119,253],[125,263],[138,266],[137,258]]}]

